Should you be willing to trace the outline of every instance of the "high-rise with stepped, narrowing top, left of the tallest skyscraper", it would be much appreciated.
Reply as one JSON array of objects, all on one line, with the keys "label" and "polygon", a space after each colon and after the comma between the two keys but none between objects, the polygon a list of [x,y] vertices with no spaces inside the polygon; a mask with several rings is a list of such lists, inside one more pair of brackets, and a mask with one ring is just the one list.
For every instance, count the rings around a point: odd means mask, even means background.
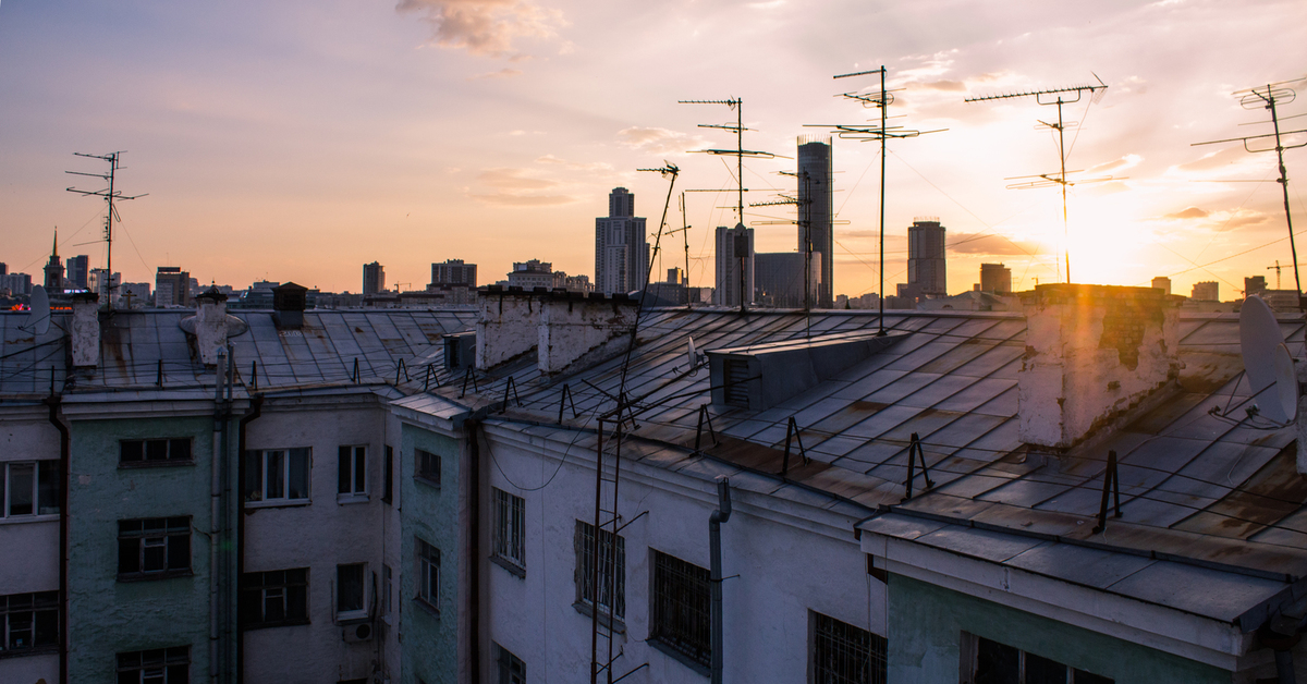
[{"label": "high-rise with stepped, narrowing top, left of the tallest skyscraper", "polygon": [[635,195],[616,187],[608,196],[608,216],[595,218],[595,290],[627,293],[644,286],[650,243],[644,218],[635,216]]}]

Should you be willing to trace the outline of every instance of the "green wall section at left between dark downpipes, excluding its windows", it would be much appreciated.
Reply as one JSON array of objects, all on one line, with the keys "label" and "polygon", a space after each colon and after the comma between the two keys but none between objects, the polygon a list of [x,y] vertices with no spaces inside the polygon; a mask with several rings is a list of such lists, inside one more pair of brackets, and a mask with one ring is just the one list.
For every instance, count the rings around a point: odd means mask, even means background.
[{"label": "green wall section at left between dark downpipes, excluding its windows", "polygon": [[[192,437],[192,466],[119,468],[119,441]],[[233,445],[234,445],[233,432]],[[209,500],[213,419],[72,424],[68,487],[69,681],[114,681],[115,654],[191,645],[191,680],[209,668]],[[191,577],[119,582],[118,521],[191,515]]]}]

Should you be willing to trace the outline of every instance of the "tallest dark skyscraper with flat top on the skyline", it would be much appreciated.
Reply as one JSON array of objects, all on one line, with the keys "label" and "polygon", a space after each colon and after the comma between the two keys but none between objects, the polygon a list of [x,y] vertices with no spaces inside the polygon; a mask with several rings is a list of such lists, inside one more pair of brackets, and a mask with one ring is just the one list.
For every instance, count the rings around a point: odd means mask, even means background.
[{"label": "tallest dark skyscraper with flat top on the skyline", "polygon": [[[813,254],[821,254],[816,306],[830,309],[834,303],[834,174],[831,171],[830,137],[799,136],[799,252],[808,251],[805,229]],[[817,269],[817,260],[813,260]]]}]

